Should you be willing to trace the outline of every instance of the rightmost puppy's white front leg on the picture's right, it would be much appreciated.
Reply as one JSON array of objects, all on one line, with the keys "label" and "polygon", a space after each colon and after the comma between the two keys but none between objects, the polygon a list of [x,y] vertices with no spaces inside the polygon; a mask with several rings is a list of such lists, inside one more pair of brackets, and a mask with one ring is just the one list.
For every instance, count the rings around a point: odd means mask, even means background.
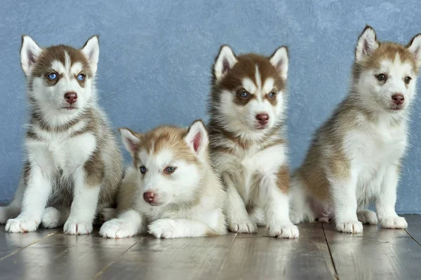
[{"label": "rightmost puppy's white front leg on the picture's right", "polygon": [[395,211],[396,187],[399,181],[399,171],[396,165],[385,170],[380,186],[380,194],[376,198],[375,208],[382,228],[408,228],[405,218],[399,217]]}]

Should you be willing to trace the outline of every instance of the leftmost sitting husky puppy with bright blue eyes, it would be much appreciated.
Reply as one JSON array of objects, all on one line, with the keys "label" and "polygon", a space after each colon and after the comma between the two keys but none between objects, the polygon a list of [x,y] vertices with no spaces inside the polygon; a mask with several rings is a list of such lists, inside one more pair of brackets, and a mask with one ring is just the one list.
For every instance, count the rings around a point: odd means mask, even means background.
[{"label": "leftmost sitting husky puppy with bright blue eyes", "polygon": [[[97,209],[114,203],[122,177],[121,153],[97,105],[98,36],[83,48],[40,48],[22,36],[30,120],[25,167],[13,202],[0,207],[7,232],[64,224],[64,232],[92,232]],[[17,217],[16,217],[17,216]]]}]

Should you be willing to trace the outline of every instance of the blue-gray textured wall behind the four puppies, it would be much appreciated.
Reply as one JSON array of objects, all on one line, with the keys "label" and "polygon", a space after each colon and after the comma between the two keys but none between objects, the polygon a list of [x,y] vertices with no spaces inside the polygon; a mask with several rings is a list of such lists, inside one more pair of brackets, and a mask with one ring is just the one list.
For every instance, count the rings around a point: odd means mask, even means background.
[{"label": "blue-gray textured wall behind the four puppies", "polygon": [[[354,45],[366,23],[380,40],[421,32],[408,1],[0,1],[0,201],[11,200],[27,120],[20,35],[40,45],[81,46],[100,34],[100,104],[114,127],[148,130],[205,118],[210,65],[221,44],[235,52],[290,50],[290,162],[347,92]],[[420,93],[421,94],[421,93]],[[421,108],[415,102],[397,210],[421,213]]]}]

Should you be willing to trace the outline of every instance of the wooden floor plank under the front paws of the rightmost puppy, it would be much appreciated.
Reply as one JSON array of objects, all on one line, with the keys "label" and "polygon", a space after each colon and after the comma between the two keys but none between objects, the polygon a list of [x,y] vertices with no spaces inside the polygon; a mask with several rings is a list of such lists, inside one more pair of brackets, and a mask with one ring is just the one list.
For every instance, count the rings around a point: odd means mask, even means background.
[{"label": "wooden floor plank under the front paws of the rightmost puppy", "polygon": [[420,279],[421,248],[405,230],[364,225],[349,235],[323,227],[339,279]]}]

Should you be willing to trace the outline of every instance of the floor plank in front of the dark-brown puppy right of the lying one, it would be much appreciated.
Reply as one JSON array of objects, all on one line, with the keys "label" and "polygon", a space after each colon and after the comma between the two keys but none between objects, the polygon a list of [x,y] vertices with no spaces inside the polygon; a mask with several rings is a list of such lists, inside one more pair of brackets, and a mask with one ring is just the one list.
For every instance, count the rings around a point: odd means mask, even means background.
[{"label": "floor plank in front of the dark-brown puppy right of the lying one", "polygon": [[299,225],[298,239],[239,235],[217,279],[334,279],[320,223]]}]

